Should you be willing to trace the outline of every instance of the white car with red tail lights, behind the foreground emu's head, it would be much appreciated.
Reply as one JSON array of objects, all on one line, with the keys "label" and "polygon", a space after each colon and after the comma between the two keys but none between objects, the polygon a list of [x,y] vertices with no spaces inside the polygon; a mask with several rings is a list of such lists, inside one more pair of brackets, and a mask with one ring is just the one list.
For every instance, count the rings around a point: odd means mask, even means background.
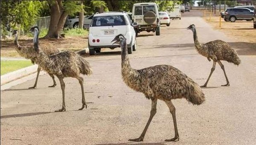
[{"label": "white car with red tail lights, behind the foreground emu's head", "polygon": [[136,33],[131,19],[125,12],[113,12],[95,14],[89,27],[88,48],[90,55],[101,51],[101,48],[114,49],[118,44],[112,44],[111,41],[118,34],[123,34],[128,46],[128,54],[136,51]]}]

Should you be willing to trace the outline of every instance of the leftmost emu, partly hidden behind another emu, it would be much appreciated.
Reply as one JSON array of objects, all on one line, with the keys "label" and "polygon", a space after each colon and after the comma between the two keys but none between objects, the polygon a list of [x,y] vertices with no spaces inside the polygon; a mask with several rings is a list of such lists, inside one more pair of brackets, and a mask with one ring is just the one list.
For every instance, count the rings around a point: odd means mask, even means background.
[{"label": "leftmost emu, partly hidden behind another emu", "polygon": [[[33,45],[31,45],[31,46],[20,46],[20,44],[18,43],[17,30],[14,30],[12,32],[12,34],[15,35],[14,43],[16,45],[15,49],[18,52],[18,54],[20,54],[20,56],[22,56],[22,57],[25,57],[26,59],[30,59],[33,64],[34,63],[38,64],[37,57],[35,55],[31,55],[31,54],[34,54],[34,53],[28,53],[29,51],[34,50]],[[42,49],[42,51],[44,51],[44,53],[46,55],[57,54],[57,53],[60,52],[57,48],[53,47],[51,43],[47,43],[47,44],[44,44],[44,45],[40,44],[40,48]],[[29,88],[36,88],[40,71],[41,71],[41,67],[40,67],[40,65],[38,65],[35,84],[34,84],[34,86],[29,87]],[[52,77],[53,85],[50,85],[49,87],[55,87],[56,82],[55,82],[54,76],[53,75],[50,75],[50,76]]]}]

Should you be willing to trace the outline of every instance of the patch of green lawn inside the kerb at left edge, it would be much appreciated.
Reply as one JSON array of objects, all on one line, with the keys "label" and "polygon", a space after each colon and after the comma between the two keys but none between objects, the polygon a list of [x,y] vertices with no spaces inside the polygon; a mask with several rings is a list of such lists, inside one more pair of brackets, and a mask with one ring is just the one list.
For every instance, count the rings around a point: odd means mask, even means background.
[{"label": "patch of green lawn inside the kerb at left edge", "polygon": [[1,75],[33,65],[29,60],[1,60]]}]

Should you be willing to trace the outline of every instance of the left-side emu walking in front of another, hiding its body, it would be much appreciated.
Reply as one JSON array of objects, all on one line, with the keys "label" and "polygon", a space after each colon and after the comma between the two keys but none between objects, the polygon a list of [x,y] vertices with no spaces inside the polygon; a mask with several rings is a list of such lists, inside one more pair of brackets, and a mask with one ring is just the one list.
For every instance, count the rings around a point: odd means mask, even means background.
[{"label": "left-side emu walking in front of another, hiding its body", "polygon": [[38,59],[39,65],[47,71],[49,74],[54,74],[58,77],[61,90],[62,90],[62,108],[58,111],[66,111],[65,106],[65,83],[63,81],[64,77],[74,77],[79,80],[81,85],[82,92],[82,107],[79,110],[82,110],[85,106],[87,108],[87,104],[84,99],[84,86],[83,77],[80,77],[80,74],[90,75],[92,74],[89,63],[81,57],[79,54],[76,54],[73,51],[62,51],[58,54],[50,55],[41,51],[40,46],[38,45],[38,35],[39,30],[37,27],[32,27],[30,31],[34,31],[34,51],[32,52]]}]

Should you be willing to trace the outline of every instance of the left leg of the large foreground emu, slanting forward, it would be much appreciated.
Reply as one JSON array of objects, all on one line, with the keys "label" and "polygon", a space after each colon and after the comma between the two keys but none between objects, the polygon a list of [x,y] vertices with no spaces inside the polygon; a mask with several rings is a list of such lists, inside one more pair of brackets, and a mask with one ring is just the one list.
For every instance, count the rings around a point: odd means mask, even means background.
[{"label": "left leg of the large foreground emu, slanting forward", "polygon": [[136,139],[129,139],[129,141],[135,141],[135,142],[141,142],[141,141],[143,141],[144,136],[145,136],[145,134],[146,134],[146,132],[147,132],[147,130],[148,130],[148,126],[149,126],[151,120],[153,119],[153,117],[154,117],[154,115],[155,115],[156,113],[157,113],[157,99],[154,99],[154,100],[152,100],[152,102],[151,102],[150,117],[149,117],[149,119],[148,119],[148,122],[147,122],[147,124],[146,124],[146,126],[145,126],[145,128],[144,128],[144,130],[143,130],[143,132],[142,132],[142,134],[140,135],[139,138],[136,138]]}]

